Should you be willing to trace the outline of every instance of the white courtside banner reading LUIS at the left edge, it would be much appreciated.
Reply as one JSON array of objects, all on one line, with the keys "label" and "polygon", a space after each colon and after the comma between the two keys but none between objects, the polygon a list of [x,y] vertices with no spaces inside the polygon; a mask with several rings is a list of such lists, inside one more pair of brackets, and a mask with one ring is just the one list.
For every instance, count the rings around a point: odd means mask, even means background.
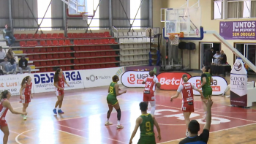
[{"label": "white courtside banner reading LUIS at the left edge", "polygon": [[23,74],[23,75],[4,75],[0,77],[0,92],[4,90],[10,91],[10,93],[15,95],[20,95],[21,82],[24,77],[30,76],[32,79],[32,88],[31,93],[34,94],[34,78],[31,74]]}]

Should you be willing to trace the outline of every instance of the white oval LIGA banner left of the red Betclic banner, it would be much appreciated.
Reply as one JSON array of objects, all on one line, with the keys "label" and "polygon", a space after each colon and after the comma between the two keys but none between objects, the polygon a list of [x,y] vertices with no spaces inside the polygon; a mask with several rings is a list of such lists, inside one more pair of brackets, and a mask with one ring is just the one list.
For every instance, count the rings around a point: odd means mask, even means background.
[{"label": "white oval LIGA banner left of the red Betclic banner", "polygon": [[143,80],[148,77],[148,72],[128,71],[121,76],[121,83],[128,88],[143,88]]}]

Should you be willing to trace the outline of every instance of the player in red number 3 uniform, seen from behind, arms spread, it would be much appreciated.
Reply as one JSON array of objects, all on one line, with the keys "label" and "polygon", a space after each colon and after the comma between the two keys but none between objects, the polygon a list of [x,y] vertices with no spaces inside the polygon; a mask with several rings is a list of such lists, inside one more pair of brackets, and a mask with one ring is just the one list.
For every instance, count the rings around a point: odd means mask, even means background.
[{"label": "player in red number 3 uniform, seen from behind, arms spread", "polygon": [[[195,85],[192,83],[187,83],[187,75],[182,75],[182,80],[184,81],[183,84],[178,86],[178,90],[175,96],[172,96],[170,98],[170,102],[173,102],[173,99],[176,99],[178,95],[181,93],[182,96],[182,106],[181,110],[183,111],[183,115],[185,118],[185,123],[188,128],[189,126],[189,116],[191,115],[192,112],[194,112],[194,94],[193,94],[193,89],[195,91],[198,91],[201,94],[201,97],[203,96],[202,91],[200,91]],[[186,136],[189,136],[189,132],[187,130]]]}]

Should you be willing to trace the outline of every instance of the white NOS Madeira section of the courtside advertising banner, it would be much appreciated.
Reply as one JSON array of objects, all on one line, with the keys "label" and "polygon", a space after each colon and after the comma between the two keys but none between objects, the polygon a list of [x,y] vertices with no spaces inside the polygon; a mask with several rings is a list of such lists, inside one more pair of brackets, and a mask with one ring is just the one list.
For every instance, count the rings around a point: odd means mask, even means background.
[{"label": "white NOS Madeira section of the courtside advertising banner", "polygon": [[[119,72],[124,72],[123,67],[114,67],[107,69],[86,69],[81,71],[81,76],[84,79],[84,88],[97,86],[109,86],[112,82],[112,77]],[[120,76],[119,76],[119,79]],[[121,84],[121,81],[118,81]]]}]

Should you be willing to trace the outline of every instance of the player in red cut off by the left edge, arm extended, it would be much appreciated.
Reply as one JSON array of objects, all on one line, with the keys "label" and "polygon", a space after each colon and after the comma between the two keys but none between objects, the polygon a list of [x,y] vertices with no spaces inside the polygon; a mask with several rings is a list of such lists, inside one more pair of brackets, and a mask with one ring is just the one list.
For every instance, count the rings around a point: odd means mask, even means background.
[{"label": "player in red cut off by the left edge, arm extended", "polygon": [[1,92],[0,95],[0,129],[2,132],[4,132],[4,138],[3,138],[3,144],[7,144],[8,137],[9,137],[9,127],[7,124],[7,121],[5,121],[5,116],[7,114],[7,111],[10,110],[13,114],[21,114],[26,115],[26,112],[20,113],[13,110],[12,105],[9,102],[9,99],[11,97],[11,94],[9,91],[5,90]]}]

